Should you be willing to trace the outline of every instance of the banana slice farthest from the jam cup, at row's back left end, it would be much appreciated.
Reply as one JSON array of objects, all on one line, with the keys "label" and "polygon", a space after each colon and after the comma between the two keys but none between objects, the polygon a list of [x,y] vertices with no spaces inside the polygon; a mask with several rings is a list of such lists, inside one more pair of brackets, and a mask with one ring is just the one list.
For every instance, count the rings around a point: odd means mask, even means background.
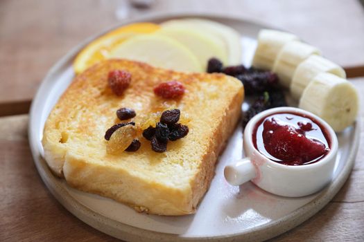
[{"label": "banana slice farthest from the jam cup, at row's back left end", "polygon": [[263,29],[259,31],[258,46],[252,65],[256,68],[272,70],[279,50],[289,41],[299,40],[288,32]]}]

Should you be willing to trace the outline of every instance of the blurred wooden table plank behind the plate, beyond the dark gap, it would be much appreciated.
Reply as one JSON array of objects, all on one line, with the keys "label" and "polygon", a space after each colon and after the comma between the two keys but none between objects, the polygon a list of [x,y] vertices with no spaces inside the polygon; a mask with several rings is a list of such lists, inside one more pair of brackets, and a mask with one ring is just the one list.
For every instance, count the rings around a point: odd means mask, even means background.
[{"label": "blurred wooden table plank behind the plate, beyond the dark gap", "polygon": [[358,0],[1,0],[0,109],[31,100],[49,68],[85,38],[125,19],[174,12],[259,21],[294,32],[342,66],[364,64]]}]

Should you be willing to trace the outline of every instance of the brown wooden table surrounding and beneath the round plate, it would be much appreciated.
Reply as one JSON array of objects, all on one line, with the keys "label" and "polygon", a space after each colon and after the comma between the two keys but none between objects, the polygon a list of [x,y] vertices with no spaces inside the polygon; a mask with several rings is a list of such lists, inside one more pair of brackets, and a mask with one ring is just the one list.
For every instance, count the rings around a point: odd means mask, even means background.
[{"label": "brown wooden table surrounding and beneath the round plate", "polygon": [[[46,71],[79,41],[150,12],[214,12],[261,21],[295,32],[338,64],[364,65],[364,10],[356,0],[160,0],[149,9],[123,11],[125,6],[111,0],[0,1],[0,116],[26,113]],[[350,81],[363,96],[364,78]],[[26,114],[0,118],[0,241],[116,241],[79,221],[48,192],[31,158],[27,124]],[[333,200],[272,241],[364,241],[363,157],[361,145],[351,176]]]}]

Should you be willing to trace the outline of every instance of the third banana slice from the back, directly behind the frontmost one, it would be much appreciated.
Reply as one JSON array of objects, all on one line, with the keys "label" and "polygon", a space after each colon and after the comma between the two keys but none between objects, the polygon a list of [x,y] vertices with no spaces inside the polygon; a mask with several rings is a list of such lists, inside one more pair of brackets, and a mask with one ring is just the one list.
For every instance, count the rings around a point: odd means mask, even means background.
[{"label": "third banana slice from the back, directly behind the frontmost one", "polygon": [[319,73],[331,73],[338,77],[346,78],[346,74],[341,66],[321,57],[320,55],[311,55],[297,66],[293,74],[291,82],[291,95],[295,100],[300,100],[300,97],[306,86],[313,80],[313,77]]}]

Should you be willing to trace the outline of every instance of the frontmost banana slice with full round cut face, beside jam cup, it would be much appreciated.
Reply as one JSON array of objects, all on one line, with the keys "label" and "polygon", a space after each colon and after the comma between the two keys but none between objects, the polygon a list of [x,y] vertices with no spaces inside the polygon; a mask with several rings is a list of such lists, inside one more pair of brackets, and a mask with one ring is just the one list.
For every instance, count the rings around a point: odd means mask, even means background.
[{"label": "frontmost banana slice with full round cut face, beside jam cup", "polygon": [[358,115],[359,98],[354,85],[331,73],[316,75],[304,89],[300,109],[320,116],[334,131],[349,127]]}]

